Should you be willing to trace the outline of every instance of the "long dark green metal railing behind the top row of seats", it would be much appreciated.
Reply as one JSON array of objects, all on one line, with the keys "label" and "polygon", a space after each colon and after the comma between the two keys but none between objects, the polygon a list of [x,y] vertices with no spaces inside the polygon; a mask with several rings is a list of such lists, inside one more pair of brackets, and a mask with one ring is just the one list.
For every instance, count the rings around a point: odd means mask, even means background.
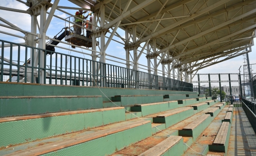
[{"label": "long dark green metal railing behind the top row of seats", "polygon": [[[3,40],[0,43],[0,81],[193,91],[191,83],[163,76],[18,43]],[[9,47],[5,47],[7,44]],[[27,79],[31,74],[31,80]]]}]

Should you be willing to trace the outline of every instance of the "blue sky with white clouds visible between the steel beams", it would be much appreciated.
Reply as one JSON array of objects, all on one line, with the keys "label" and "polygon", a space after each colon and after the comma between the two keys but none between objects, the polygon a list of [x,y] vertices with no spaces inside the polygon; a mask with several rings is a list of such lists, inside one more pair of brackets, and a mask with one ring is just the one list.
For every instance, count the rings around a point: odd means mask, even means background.
[{"label": "blue sky with white clouds visible between the steel beams", "polygon": [[[53,0],[52,0],[52,2],[53,2]],[[22,3],[18,2],[18,1],[15,1],[15,0],[1,0],[0,6],[8,7],[8,8],[21,9],[21,10],[27,10],[27,8],[28,8],[25,4],[22,4]],[[76,5],[74,5],[73,3],[69,2],[68,0],[65,0],[65,1],[64,0],[60,0],[59,6],[77,7]],[[74,14],[76,12],[76,10],[69,10],[69,9],[63,9],[63,10],[65,10],[66,12],[69,12],[71,14]],[[50,10],[48,10],[48,12],[49,11]],[[5,17],[6,14],[8,14],[8,18]],[[56,10],[55,15],[57,15],[59,17],[62,17],[62,18],[69,17],[69,15],[67,15],[65,13],[62,13],[62,12],[60,12],[58,10]],[[12,24],[15,24],[16,26],[19,26],[23,30],[30,31],[30,29],[31,29],[30,28],[31,17],[30,17],[29,14],[16,13],[16,12],[0,10],[0,17],[8,19],[8,21],[10,21]],[[0,22],[0,23],[3,24],[3,22]],[[60,19],[58,19],[56,17],[53,17],[52,21],[50,22],[48,31],[46,32],[46,35],[49,36],[50,38],[53,38],[54,35],[59,33],[62,28],[67,26],[67,24],[68,23],[65,23],[65,21],[61,21]],[[4,28],[4,27],[1,27],[1,31],[12,32],[13,34],[24,36],[23,33],[20,33],[20,32],[15,31],[15,30],[10,30],[10,29]],[[123,38],[125,37],[125,32],[123,30],[118,29],[117,32]],[[109,36],[109,34],[107,34],[107,36]],[[6,41],[11,41],[11,42],[16,42],[16,43],[23,43],[24,42],[24,39],[16,38],[16,37],[11,37],[11,36],[5,35],[5,34],[1,34],[1,38],[0,39],[6,40]],[[115,39],[117,41],[121,41],[121,39],[118,38],[118,37],[114,37],[113,39]],[[255,40],[255,43],[256,43],[256,40]],[[58,46],[63,46],[63,47],[71,49],[70,46],[62,44],[62,43],[60,43]],[[141,45],[141,46],[143,46],[143,45]],[[125,49],[123,49],[123,47],[124,46],[122,44],[119,44],[117,42],[111,41],[110,45],[109,45],[109,47],[108,47],[108,49],[106,51],[106,54],[117,56],[119,58],[125,59],[126,58],[126,53],[125,53]],[[85,52],[85,53],[88,53],[88,54],[91,54],[91,51],[81,50],[81,49],[78,49],[78,48],[76,50],[82,51],[82,52]],[[71,54],[71,55],[80,56],[82,58],[91,59],[91,56],[89,56],[89,55],[83,55],[83,54],[72,52],[72,51],[68,51],[68,50],[62,50],[62,49],[56,48],[56,51],[64,53],[64,54]],[[252,52],[249,53],[249,59],[250,59],[250,63],[251,64],[256,63],[255,51],[256,51],[256,46],[253,46],[252,47]],[[140,64],[145,64],[145,65],[147,64],[147,59],[146,59],[145,56],[146,55],[143,54],[141,56],[141,58],[139,59],[139,63]],[[107,59],[117,60],[119,62],[124,62],[125,63],[125,61],[122,61],[122,60],[119,60],[119,59],[115,59],[115,58],[112,58],[112,57],[109,57],[109,56],[106,56],[106,58]],[[244,59],[243,58],[244,58],[243,55],[242,56],[238,56],[236,58],[224,61],[222,63],[218,63],[218,64],[215,64],[213,66],[200,69],[198,71],[198,73],[237,73],[237,72],[239,72],[238,71],[239,67],[244,65],[244,63],[243,63]],[[124,64],[115,63],[115,62],[112,62],[112,61],[109,61],[109,60],[106,60],[106,63],[115,64],[115,65],[118,65],[118,66],[125,67]],[[142,68],[146,68],[146,67],[142,67]],[[161,68],[162,67],[159,66],[159,69],[161,69]],[[140,69],[140,70],[143,71],[143,69]],[[256,69],[255,69],[255,71],[256,71]]]}]

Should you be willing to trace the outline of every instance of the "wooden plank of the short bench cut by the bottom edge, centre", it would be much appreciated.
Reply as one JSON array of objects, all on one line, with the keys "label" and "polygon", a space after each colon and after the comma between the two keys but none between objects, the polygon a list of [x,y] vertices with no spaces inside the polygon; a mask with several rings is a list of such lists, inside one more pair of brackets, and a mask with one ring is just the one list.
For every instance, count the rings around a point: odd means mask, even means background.
[{"label": "wooden plank of the short bench cut by the bottom edge, centre", "polygon": [[168,151],[168,149],[178,143],[181,139],[181,136],[169,136],[167,139],[150,148],[149,150],[141,153],[139,156],[161,156],[164,152]]}]

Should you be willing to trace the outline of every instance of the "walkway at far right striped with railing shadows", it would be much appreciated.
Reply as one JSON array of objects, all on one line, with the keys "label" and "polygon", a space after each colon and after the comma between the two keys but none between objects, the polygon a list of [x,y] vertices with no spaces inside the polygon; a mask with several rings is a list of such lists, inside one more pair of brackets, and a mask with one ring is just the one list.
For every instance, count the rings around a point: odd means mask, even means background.
[{"label": "walkway at far right striped with railing shadows", "polygon": [[256,156],[256,135],[242,107],[234,107],[228,156]]}]

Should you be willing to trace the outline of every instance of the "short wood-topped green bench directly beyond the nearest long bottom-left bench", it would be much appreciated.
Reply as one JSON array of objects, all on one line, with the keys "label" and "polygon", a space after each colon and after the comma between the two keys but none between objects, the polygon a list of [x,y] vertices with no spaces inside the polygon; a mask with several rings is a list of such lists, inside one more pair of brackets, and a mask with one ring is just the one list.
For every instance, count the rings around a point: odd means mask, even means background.
[{"label": "short wood-topped green bench directly beyond the nearest long bottom-left bench", "polygon": [[153,116],[154,123],[166,123],[166,128],[183,121],[184,119],[194,115],[192,107],[181,107],[163,113],[158,113]]}]

